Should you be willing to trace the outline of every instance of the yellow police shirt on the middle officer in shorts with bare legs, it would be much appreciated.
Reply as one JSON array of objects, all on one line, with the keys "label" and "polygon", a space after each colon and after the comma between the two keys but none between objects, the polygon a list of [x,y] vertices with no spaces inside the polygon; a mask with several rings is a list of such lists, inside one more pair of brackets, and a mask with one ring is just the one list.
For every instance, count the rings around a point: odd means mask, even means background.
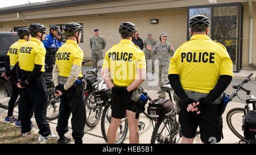
[{"label": "yellow police shirt on the middle officer in shorts with bare legs", "polygon": [[137,78],[137,69],[146,68],[143,51],[132,41],[122,39],[105,54],[102,68],[109,68],[115,86],[129,86]]}]

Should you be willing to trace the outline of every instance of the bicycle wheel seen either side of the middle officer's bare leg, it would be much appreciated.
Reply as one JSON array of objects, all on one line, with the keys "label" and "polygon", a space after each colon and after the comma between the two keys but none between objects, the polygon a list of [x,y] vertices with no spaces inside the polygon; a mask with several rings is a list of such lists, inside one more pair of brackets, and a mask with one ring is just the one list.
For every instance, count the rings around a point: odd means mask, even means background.
[{"label": "bicycle wheel seen either side of the middle officer's bare leg", "polygon": [[[105,106],[101,116],[101,133],[106,143],[108,143],[107,132],[112,118],[112,112],[110,105]],[[123,143],[128,132],[127,117],[121,120],[117,129],[117,137],[115,139],[116,144]]]}]

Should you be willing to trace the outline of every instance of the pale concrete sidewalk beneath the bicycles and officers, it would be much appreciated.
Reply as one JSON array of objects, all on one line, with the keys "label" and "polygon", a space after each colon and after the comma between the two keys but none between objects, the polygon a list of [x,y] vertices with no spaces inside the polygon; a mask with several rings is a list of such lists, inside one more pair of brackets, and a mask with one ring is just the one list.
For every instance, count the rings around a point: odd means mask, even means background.
[{"label": "pale concrete sidewalk beneath the bicycles and officers", "polygon": [[[150,97],[152,99],[156,99],[158,98],[157,91],[153,91],[153,90],[148,90],[146,91],[148,95],[150,95]],[[167,94],[166,94],[167,95]],[[224,113],[224,115],[222,115],[223,117],[223,133],[224,133],[224,139],[221,140],[220,144],[235,144],[238,143],[240,139],[238,139],[228,128],[228,125],[226,124],[226,113],[234,108],[234,107],[243,107],[242,103],[236,103],[236,102],[230,102],[228,104],[228,106],[226,107],[226,111]],[[18,118],[18,108],[16,107],[14,110],[14,116],[15,118]],[[5,117],[7,116],[7,110],[0,108],[0,120],[4,120]],[[71,116],[72,117],[72,116]],[[35,123],[35,118],[33,117],[32,122],[34,124]],[[241,118],[242,120],[242,118]],[[139,132],[140,135],[140,143],[142,144],[149,144],[150,140],[151,140],[151,135],[152,135],[152,122],[150,122],[150,119],[148,119],[146,116],[144,116],[143,114],[141,115],[141,122],[145,123],[145,127],[143,129],[143,131]],[[83,137],[83,143],[85,144],[106,144],[105,140],[102,137],[102,133],[101,133],[101,122],[98,123],[98,125],[95,128],[89,128],[85,125],[85,135]],[[53,121],[49,121],[49,125],[51,127],[51,131],[55,134],[57,134],[56,132],[56,125],[57,125],[57,119],[53,120]],[[35,127],[37,129],[37,127]],[[72,139],[72,128],[71,128],[71,118],[69,119],[69,131],[68,133],[65,135],[69,138]],[[181,140],[180,140],[181,141]],[[73,142],[73,139],[72,139]],[[126,139],[124,141],[124,143],[129,143],[129,132],[127,133]],[[195,138],[195,143],[196,144],[200,144],[200,135],[197,135]]]}]

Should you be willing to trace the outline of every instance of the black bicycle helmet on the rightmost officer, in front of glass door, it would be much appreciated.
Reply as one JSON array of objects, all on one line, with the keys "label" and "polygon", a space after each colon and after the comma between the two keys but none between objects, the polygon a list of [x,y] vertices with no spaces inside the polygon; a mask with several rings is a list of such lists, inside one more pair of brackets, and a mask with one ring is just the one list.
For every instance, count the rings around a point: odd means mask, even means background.
[{"label": "black bicycle helmet on the rightmost officer, in front of glass door", "polygon": [[188,25],[192,31],[202,29],[202,28],[205,31],[207,31],[207,28],[209,27],[210,22],[207,16],[195,15],[195,16],[192,16],[191,19],[189,19]]}]

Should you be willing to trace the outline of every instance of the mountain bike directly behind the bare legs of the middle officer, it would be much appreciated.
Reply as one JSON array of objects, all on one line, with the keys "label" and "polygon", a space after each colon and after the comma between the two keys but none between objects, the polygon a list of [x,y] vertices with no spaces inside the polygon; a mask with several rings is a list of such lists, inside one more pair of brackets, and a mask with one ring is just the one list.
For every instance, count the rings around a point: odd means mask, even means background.
[{"label": "mountain bike directly behind the bare legs of the middle officer", "polygon": [[[106,86],[105,83],[103,83],[103,85],[105,85],[105,87],[108,87],[108,86]],[[102,86],[102,87],[104,87],[104,86]],[[142,94],[145,94],[143,89],[142,89]],[[146,102],[150,102],[150,100],[152,100],[152,99],[150,98],[149,95],[147,95]],[[102,133],[102,136],[103,136],[104,140],[106,141],[106,143],[108,143],[107,132],[108,132],[108,128],[109,128],[109,125],[111,122],[111,118],[112,118],[112,110],[111,110],[110,102],[106,103],[106,106],[105,106],[105,108],[102,112],[102,116],[101,116],[101,133]],[[150,116],[145,111],[143,111],[142,113],[145,116],[147,116],[147,118],[150,118]],[[152,122],[152,124],[153,124],[153,122]],[[139,122],[139,131],[142,131],[144,129],[144,127],[145,127],[144,122]],[[154,127],[154,124],[153,124],[153,127]],[[121,120],[121,123],[119,124],[115,143],[116,144],[123,143],[123,141],[126,138],[127,132],[128,132],[128,122],[127,122],[127,116],[125,115],[125,118],[123,118]]]}]

